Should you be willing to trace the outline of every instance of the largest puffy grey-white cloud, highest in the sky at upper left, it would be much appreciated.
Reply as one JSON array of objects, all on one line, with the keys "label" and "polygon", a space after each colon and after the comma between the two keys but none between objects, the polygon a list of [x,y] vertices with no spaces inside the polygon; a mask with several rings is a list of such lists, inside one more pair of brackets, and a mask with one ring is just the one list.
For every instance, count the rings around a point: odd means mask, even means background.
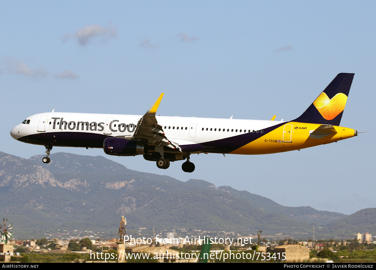
[{"label": "largest puffy grey-white cloud, highest in the sky at upper left", "polygon": [[108,41],[117,36],[117,29],[115,27],[102,27],[99,24],[85,26],[80,28],[74,34],[65,34],[63,41],[70,38],[76,38],[81,46],[86,46],[89,43],[99,40],[100,42]]}]

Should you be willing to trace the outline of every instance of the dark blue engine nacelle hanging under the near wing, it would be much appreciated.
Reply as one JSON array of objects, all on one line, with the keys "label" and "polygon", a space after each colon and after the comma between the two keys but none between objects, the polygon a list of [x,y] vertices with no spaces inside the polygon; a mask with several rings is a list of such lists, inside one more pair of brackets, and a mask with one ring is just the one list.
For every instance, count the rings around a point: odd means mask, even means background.
[{"label": "dark blue engine nacelle hanging under the near wing", "polygon": [[147,153],[147,145],[123,138],[107,138],[103,141],[103,150],[112,156],[136,156]]}]

